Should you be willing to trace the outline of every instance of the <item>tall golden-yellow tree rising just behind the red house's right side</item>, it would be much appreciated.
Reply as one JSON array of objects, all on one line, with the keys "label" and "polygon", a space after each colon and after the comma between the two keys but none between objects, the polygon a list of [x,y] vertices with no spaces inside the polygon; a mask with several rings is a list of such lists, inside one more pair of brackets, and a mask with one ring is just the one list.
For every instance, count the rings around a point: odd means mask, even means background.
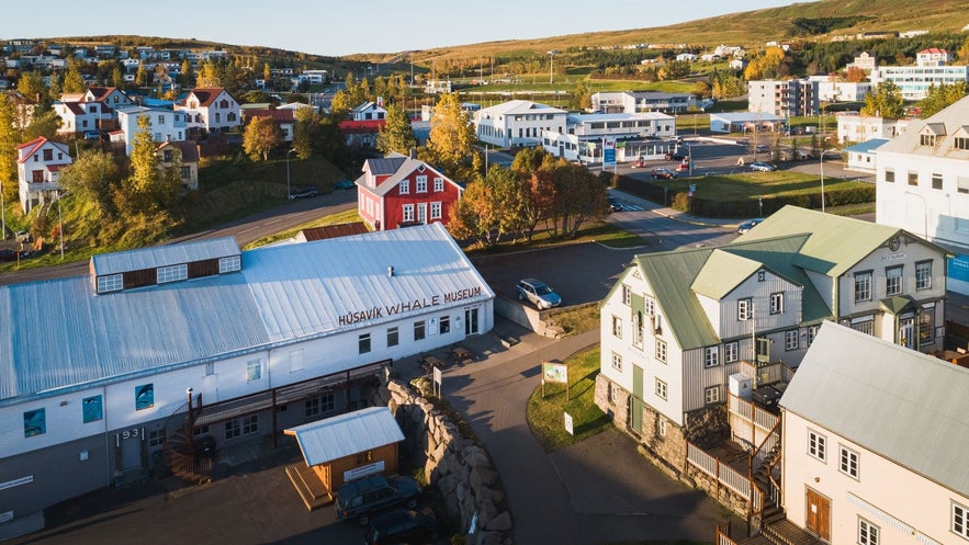
[{"label": "tall golden-yellow tree rising just behind the red house's right side", "polygon": [[474,138],[474,126],[458,94],[443,94],[435,105],[421,159],[439,166],[452,179],[470,179]]}]

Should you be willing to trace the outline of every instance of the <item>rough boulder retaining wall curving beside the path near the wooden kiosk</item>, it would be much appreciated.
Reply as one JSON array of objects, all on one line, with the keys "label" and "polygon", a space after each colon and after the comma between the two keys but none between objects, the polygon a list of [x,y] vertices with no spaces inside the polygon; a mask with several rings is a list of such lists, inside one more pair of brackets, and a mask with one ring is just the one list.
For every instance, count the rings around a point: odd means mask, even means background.
[{"label": "rough boulder retaining wall curving beside the path near the wooden kiosk", "polygon": [[402,457],[408,465],[424,465],[428,482],[441,492],[460,531],[467,532],[477,513],[477,530],[467,544],[511,545],[511,513],[487,451],[462,438],[454,422],[408,385],[387,379],[380,397],[404,430]]}]

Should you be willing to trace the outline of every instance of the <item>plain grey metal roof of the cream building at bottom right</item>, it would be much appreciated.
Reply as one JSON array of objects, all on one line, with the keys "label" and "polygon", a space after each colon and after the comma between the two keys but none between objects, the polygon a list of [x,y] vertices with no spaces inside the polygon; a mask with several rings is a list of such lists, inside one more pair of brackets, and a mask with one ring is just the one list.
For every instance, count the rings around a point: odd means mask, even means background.
[{"label": "plain grey metal roof of the cream building at bottom right", "polygon": [[780,406],[969,496],[969,370],[824,322]]}]

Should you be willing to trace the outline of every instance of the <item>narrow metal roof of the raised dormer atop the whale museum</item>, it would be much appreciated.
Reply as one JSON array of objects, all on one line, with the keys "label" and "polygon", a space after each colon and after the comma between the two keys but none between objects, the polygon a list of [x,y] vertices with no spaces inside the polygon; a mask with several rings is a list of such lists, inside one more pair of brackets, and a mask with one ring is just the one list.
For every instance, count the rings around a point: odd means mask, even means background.
[{"label": "narrow metal roof of the raised dormer atop the whale museum", "polygon": [[91,257],[94,275],[117,274],[144,269],[191,263],[214,258],[238,256],[235,237],[210,238],[178,245],[154,246],[139,250],[102,253]]}]

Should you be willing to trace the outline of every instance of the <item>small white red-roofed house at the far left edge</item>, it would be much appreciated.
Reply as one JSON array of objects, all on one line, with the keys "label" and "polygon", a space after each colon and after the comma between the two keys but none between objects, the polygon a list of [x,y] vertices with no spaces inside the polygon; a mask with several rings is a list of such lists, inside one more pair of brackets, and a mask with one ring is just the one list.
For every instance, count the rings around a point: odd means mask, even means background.
[{"label": "small white red-roofed house at the far left edge", "polygon": [[16,178],[24,213],[52,198],[50,193],[60,191],[57,174],[71,162],[67,145],[43,136],[16,147]]}]

